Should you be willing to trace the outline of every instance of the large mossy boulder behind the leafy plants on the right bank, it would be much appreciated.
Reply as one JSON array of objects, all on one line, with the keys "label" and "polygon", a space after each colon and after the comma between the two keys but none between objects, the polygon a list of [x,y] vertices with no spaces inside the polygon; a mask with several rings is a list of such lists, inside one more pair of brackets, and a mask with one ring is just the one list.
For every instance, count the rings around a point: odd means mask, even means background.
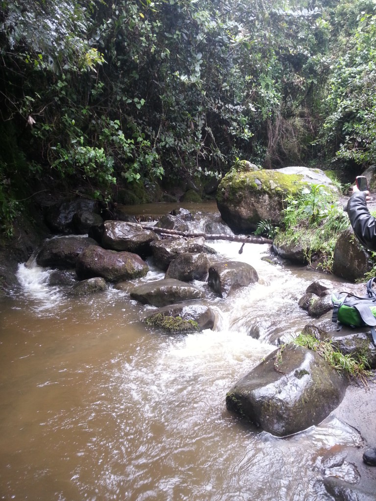
[{"label": "large mossy boulder behind the leafy plants on the right bank", "polygon": [[217,205],[224,221],[234,231],[249,232],[262,219],[279,224],[283,200],[297,194],[304,184],[324,184],[338,192],[320,169],[285,167],[276,170],[240,171],[233,169],[222,179],[217,190]]}]

